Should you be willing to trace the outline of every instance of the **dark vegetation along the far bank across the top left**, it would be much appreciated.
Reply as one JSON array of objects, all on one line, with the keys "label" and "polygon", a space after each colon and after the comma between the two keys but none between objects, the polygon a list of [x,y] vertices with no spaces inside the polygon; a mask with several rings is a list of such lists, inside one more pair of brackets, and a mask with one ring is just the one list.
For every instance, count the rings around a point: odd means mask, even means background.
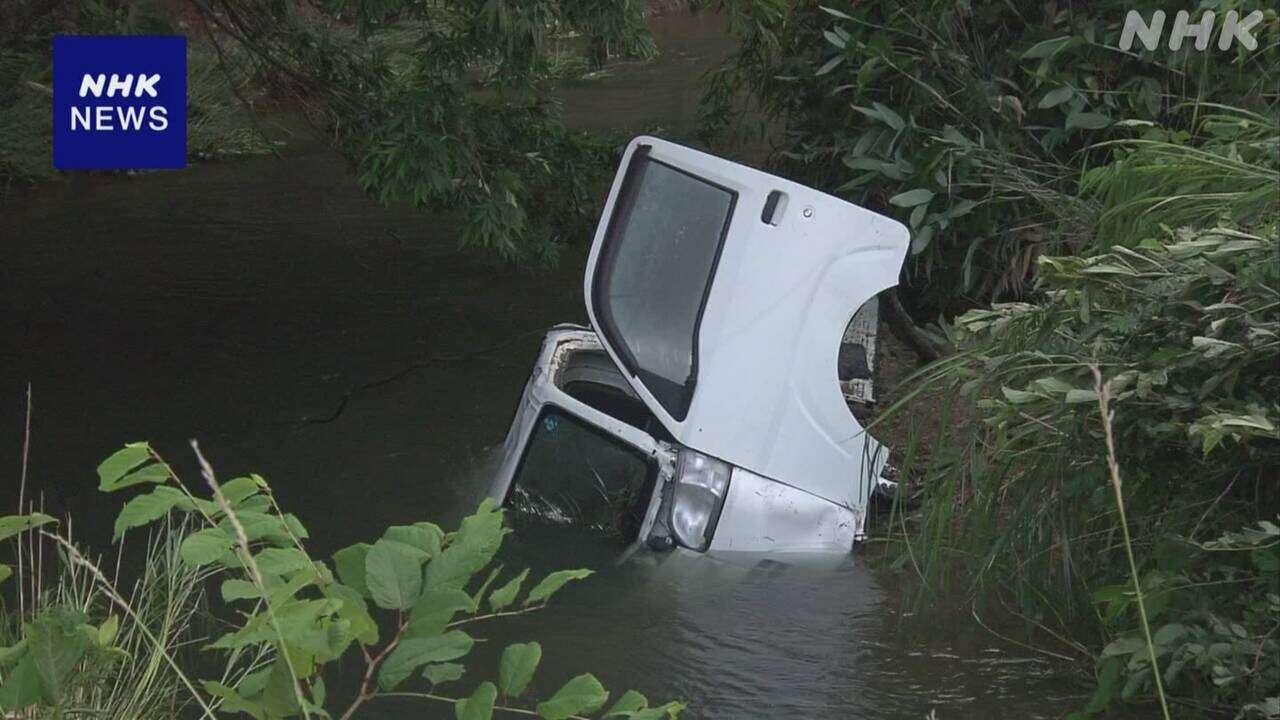
[{"label": "dark vegetation along the far bank across the top left", "polygon": [[252,106],[283,105],[349,158],[372,197],[460,211],[462,246],[535,266],[588,236],[618,146],[568,131],[552,83],[654,53],[630,1],[64,5],[0,9],[14,38],[0,46],[0,182],[52,174],[55,32],[182,33],[193,158],[269,149]]}]

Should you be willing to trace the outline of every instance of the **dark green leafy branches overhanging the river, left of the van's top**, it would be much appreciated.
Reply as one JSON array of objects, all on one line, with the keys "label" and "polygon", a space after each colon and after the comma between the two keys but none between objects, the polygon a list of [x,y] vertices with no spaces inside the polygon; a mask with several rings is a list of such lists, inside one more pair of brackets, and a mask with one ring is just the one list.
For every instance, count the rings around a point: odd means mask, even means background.
[{"label": "dark green leafy branches overhanging the river, left of the van's top", "polygon": [[616,143],[566,129],[559,35],[648,56],[640,4],[348,0],[302,17],[230,0],[207,22],[311,110],[383,202],[461,210],[461,245],[550,264],[586,237]]}]

